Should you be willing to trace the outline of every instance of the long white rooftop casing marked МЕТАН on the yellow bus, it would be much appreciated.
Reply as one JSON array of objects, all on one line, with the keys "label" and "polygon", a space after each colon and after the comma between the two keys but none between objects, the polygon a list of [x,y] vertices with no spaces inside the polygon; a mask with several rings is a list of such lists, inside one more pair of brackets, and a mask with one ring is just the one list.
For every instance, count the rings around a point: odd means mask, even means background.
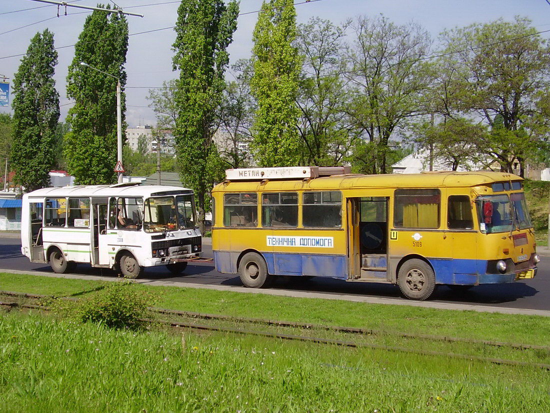
[{"label": "long white rooftop casing marked \u041c\u0415\u0422\u0410\u041d on the yellow bus", "polygon": [[226,170],[227,181],[301,180],[321,176],[347,175],[351,166],[284,166]]}]

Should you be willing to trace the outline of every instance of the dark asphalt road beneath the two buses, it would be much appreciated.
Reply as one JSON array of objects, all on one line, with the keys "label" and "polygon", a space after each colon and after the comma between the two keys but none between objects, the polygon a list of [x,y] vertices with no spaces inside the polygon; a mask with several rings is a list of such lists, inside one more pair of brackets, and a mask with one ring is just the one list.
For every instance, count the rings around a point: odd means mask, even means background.
[{"label": "dark asphalt road beneath the two buses", "polygon": [[[204,256],[212,257],[212,247],[203,244]],[[45,264],[35,264],[21,255],[20,241],[17,238],[0,237],[0,271],[2,269],[29,271],[48,271],[51,268]],[[75,274],[115,276],[111,270],[92,268],[90,265],[79,264]],[[185,285],[210,284],[241,286],[238,276],[218,273],[213,264],[197,263],[188,265],[185,276],[174,277],[164,267],[147,268],[144,279],[155,281],[170,281],[175,284]],[[2,287],[0,286],[0,290]],[[380,298],[400,297],[399,288],[388,284],[375,284],[366,282],[345,282],[340,280],[312,278],[304,279],[277,279],[272,289],[289,291],[310,291],[318,293],[337,293],[346,295],[359,295]],[[433,302],[461,303],[472,306],[497,306],[510,308],[528,308],[537,310],[550,310],[550,257],[542,257],[538,274],[535,279],[513,282],[500,285],[480,285],[473,287],[465,293],[456,293],[444,286],[439,286],[431,299]]]}]

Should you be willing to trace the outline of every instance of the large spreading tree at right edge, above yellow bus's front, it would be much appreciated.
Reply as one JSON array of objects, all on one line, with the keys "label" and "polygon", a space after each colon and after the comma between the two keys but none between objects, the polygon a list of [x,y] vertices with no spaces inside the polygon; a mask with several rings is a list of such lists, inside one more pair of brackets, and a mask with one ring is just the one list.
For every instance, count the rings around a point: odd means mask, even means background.
[{"label": "large spreading tree at right edge, above yellow bus's front", "polygon": [[449,82],[450,104],[491,128],[485,141],[503,171],[520,165],[546,148],[550,129],[543,116],[544,93],[550,89],[550,48],[527,18],[502,19],[444,31],[440,66],[456,75]]}]

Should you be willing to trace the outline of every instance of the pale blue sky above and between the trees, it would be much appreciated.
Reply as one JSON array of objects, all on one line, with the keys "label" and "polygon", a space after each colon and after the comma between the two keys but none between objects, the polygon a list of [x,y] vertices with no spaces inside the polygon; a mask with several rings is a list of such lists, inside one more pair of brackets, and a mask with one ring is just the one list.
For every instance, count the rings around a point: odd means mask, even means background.
[{"label": "pale blue sky above and between the trees", "polygon": [[[103,0],[107,3],[110,0]],[[304,0],[295,0],[301,3]],[[167,28],[175,24],[178,3],[171,0],[115,0],[119,7],[128,12],[144,14],[144,18],[128,17],[130,34]],[[152,3],[155,6],[146,6]],[[78,0],[76,4],[96,6],[93,0]],[[259,10],[262,0],[241,0],[241,13]],[[56,47],[74,45],[83,28],[87,13],[82,9],[45,6],[32,0],[0,0],[0,77],[13,79],[21,57],[9,57],[25,53],[29,41],[37,31],[46,28],[54,33]],[[36,8],[17,13],[15,10]],[[84,12],[84,13],[83,13]],[[311,17],[329,19],[335,24],[353,19],[357,15],[376,16],[383,14],[397,24],[414,23],[425,28],[434,39],[444,29],[465,26],[472,23],[485,23],[503,18],[513,20],[520,15],[532,20],[539,30],[550,29],[550,4],[546,0],[320,0],[296,6],[298,23],[306,23]],[[37,23],[41,20],[41,23]],[[240,58],[250,57],[252,31],[257,13],[245,14],[238,19],[238,28],[229,46],[230,64]],[[29,25],[21,28],[22,26]],[[17,30],[13,30],[17,29]],[[13,31],[12,31],[13,30]],[[550,37],[550,33],[543,34]],[[127,63],[127,123],[130,127],[139,124],[155,124],[155,113],[148,107],[146,97],[149,88],[161,86],[164,80],[177,77],[172,72],[173,29],[160,30],[129,37]],[[70,100],[67,99],[65,78],[67,68],[73,59],[74,48],[58,50],[56,86],[60,95],[61,120],[67,115]],[[231,78],[230,71],[226,74]],[[0,112],[12,113],[10,107],[0,107]]]}]

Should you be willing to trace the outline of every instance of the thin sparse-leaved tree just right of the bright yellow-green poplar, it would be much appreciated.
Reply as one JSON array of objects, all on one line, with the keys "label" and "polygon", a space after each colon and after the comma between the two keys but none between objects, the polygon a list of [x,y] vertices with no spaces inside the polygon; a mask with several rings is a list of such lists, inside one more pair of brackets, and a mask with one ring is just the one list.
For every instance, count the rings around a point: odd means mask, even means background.
[{"label": "thin sparse-leaved tree just right of the bright yellow-green poplar", "polygon": [[296,44],[304,64],[296,102],[307,165],[339,165],[356,136],[345,113],[343,37],[343,28],[329,20],[311,18],[298,26]]}]

